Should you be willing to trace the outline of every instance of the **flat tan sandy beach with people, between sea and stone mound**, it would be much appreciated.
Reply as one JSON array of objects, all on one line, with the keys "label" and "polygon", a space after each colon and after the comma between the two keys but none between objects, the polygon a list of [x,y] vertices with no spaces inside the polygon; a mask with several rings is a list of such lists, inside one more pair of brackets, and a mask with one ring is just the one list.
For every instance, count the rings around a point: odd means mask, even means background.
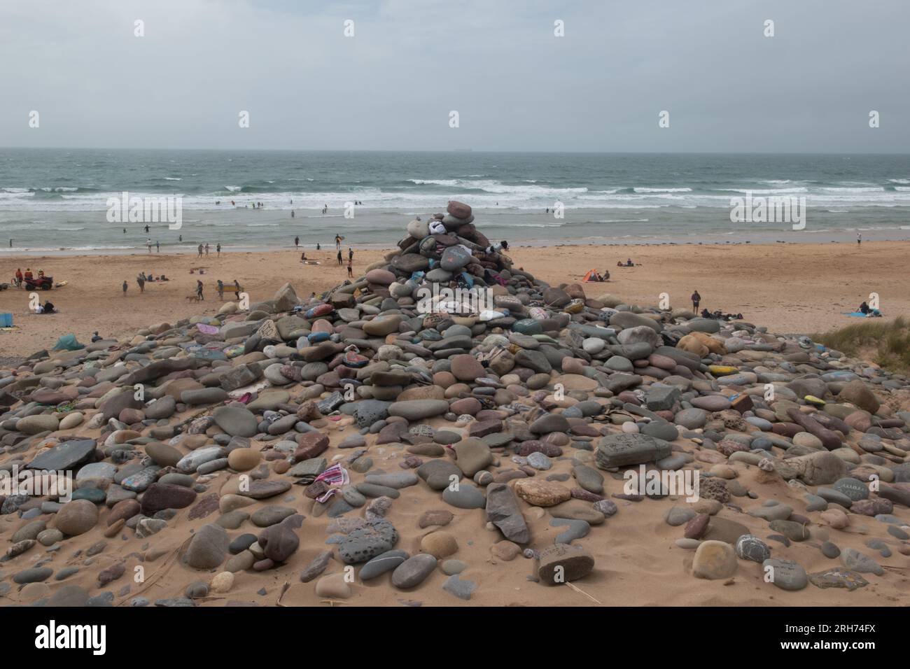
[{"label": "flat tan sandy beach with people, between sea and stone mound", "polygon": [[[856,244],[714,244],[666,246],[553,246],[521,247],[513,244],[516,267],[531,271],[552,285],[580,280],[588,269],[607,269],[609,282],[587,284],[591,295],[614,293],[639,303],[657,303],[661,293],[670,295],[674,308],[690,305],[693,290],[702,295],[702,308],[742,313],[743,319],[774,332],[816,333],[858,322],[844,316],[869,294],[877,292],[885,319],[910,309],[910,277],[905,272],[910,242],[880,241]],[[0,356],[24,357],[54,346],[61,335],[76,334],[90,340],[98,330],[104,337],[119,337],[152,323],[176,321],[187,316],[214,314],[221,306],[215,284],[238,279],[250,301],[268,299],[279,286],[292,281],[298,294],[329,289],[347,277],[338,266],[334,250],[306,249],[319,265],[303,265],[293,248],[260,253],[212,252],[196,254],[137,253],[134,255],[4,258],[0,278],[9,281],[15,269],[44,269],[55,281],[67,285],[41,293],[62,313],[29,312],[24,290],[0,291],[0,312],[11,312],[17,326],[0,332]],[[355,248],[354,273],[359,276],[386,251]],[[616,263],[632,258],[636,267],[619,269]],[[189,274],[202,267],[203,276]],[[165,283],[147,283],[140,295],[136,276],[145,271],[166,274]],[[126,296],[121,284],[129,283]],[[206,302],[187,301],[203,279]],[[225,299],[231,299],[227,292]],[[201,309],[200,309],[201,306]]]}]

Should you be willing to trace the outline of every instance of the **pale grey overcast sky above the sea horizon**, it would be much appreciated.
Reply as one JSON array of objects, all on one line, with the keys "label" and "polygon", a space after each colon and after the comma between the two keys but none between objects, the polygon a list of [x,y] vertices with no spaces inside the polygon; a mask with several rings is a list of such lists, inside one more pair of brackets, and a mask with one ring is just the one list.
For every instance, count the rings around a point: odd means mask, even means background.
[{"label": "pale grey overcast sky above the sea horizon", "polygon": [[910,152],[908,33],[907,0],[5,0],[0,147]]}]

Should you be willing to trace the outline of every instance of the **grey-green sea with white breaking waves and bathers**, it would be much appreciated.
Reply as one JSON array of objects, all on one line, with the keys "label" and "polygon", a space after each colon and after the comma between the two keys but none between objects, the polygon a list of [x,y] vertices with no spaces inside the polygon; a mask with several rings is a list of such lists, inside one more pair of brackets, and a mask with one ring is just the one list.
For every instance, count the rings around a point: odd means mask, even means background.
[{"label": "grey-green sea with white breaking waves and bathers", "polygon": [[[179,228],[117,218],[125,193],[176,198]],[[732,216],[747,197],[802,202],[802,227]],[[452,199],[519,246],[907,239],[910,155],[0,148],[0,257],[315,248],[336,234],[389,247]]]}]

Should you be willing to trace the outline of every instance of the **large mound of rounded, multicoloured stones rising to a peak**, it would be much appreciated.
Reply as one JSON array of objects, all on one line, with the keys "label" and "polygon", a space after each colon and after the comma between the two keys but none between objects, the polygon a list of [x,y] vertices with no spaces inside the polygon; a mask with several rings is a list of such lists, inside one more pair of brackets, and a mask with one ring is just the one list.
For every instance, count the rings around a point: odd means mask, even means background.
[{"label": "large mound of rounded, multicoloured stones rising to a peak", "polygon": [[[441,572],[443,590],[470,599],[477,583],[457,558],[473,537],[445,529],[453,513],[499,533],[501,562],[534,561],[541,588],[584,583],[595,558],[580,540],[600,533],[606,545],[607,520],[635,502],[662,505],[681,528],[695,578],[752,573],[753,562],[784,590],[854,590],[887,578],[879,557],[910,553],[905,377],[747,322],[549,286],[472,221],[459,202],[411,221],[397,250],[320,299],[287,284],[248,312],[227,303],[216,317],[0,371],[0,470],[75,472],[71,502],[0,496],[0,591],[60,582],[39,602],[145,605],[129,585],[110,588],[139,553],[154,571],[155,535],[179,532],[179,518],[210,518],[180,537],[179,559],[217,574],[159,605],[278,569],[301,537],[321,545],[300,573],[319,596],[351,596],[339,573],[351,564],[360,582],[390,572],[396,589]],[[491,304],[444,294],[459,288],[489,290]],[[637,485],[653,471],[688,473],[696,499],[667,480]],[[386,517],[410,486],[439,500],[414,554]],[[304,513],[332,519],[328,541],[305,532]],[[867,550],[841,550],[860,516],[875,521]],[[531,532],[541,518],[555,536]],[[86,567],[61,564],[86,532],[107,565],[97,592],[66,584]],[[134,536],[142,549],[104,541]],[[784,557],[809,539],[829,568],[807,574]]]}]

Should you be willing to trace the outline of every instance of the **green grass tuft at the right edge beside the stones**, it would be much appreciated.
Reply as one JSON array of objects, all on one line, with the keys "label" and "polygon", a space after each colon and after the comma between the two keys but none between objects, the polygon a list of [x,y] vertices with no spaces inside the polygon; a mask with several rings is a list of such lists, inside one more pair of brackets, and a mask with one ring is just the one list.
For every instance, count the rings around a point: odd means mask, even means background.
[{"label": "green grass tuft at the right edge beside the stones", "polygon": [[812,339],[851,358],[873,360],[885,370],[910,373],[910,323],[903,317],[856,323]]}]

